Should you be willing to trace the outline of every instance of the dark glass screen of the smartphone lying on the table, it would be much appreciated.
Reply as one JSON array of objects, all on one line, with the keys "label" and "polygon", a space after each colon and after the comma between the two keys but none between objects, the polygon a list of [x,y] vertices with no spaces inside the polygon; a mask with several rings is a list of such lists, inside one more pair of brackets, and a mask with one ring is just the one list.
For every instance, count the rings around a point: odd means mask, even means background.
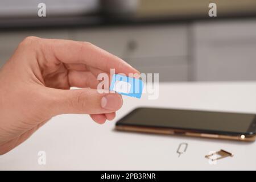
[{"label": "dark glass screen of the smartphone lying on the table", "polygon": [[170,127],[175,129],[247,133],[254,126],[255,114],[215,111],[138,108],[117,122],[117,125]]}]

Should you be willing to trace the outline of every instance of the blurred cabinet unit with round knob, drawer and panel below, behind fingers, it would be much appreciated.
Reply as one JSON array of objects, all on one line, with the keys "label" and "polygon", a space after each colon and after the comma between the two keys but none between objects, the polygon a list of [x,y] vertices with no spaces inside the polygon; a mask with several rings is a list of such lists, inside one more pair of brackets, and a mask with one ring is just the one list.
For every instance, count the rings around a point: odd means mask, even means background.
[{"label": "blurred cabinet unit with round knob, drawer and panel below, behind fingers", "polygon": [[187,81],[187,25],[80,28],[72,39],[86,41],[122,57],[160,81]]}]

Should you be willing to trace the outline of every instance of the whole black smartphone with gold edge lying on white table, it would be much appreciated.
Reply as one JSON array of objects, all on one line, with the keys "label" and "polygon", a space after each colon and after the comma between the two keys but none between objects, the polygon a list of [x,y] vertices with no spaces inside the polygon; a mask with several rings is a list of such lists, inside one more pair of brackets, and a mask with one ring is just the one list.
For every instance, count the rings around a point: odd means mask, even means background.
[{"label": "whole black smartphone with gold edge lying on white table", "polygon": [[143,133],[254,141],[256,115],[203,110],[139,107],[115,123],[115,129]]}]

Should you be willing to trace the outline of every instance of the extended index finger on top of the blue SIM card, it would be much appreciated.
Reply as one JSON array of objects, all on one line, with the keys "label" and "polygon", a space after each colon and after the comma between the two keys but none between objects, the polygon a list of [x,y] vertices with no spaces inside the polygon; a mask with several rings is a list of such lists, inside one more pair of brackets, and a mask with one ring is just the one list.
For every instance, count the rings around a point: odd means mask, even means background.
[{"label": "extended index finger on top of the blue SIM card", "polygon": [[108,73],[110,69],[115,69],[115,73],[124,73],[125,75],[139,73],[124,60],[91,43],[61,39],[43,39],[43,41],[46,44],[45,48],[48,47],[46,53],[52,52],[57,61],[66,64],[86,64]]}]

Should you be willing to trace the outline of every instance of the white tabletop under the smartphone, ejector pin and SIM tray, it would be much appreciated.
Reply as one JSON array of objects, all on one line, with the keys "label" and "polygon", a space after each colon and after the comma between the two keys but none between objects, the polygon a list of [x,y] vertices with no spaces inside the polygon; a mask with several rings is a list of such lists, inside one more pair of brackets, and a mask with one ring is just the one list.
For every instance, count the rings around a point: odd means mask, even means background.
[{"label": "white tabletop under the smartphone, ejector pin and SIM tray", "polygon": [[[123,97],[118,118],[138,106],[256,113],[256,82],[197,82],[160,84],[158,100]],[[94,123],[87,115],[60,115],[30,139],[0,156],[2,169],[256,169],[256,142],[135,134],[114,131],[114,123]],[[178,158],[179,143],[187,152]],[[209,151],[234,153],[233,158],[209,164]],[[38,151],[46,151],[46,165]]]}]

